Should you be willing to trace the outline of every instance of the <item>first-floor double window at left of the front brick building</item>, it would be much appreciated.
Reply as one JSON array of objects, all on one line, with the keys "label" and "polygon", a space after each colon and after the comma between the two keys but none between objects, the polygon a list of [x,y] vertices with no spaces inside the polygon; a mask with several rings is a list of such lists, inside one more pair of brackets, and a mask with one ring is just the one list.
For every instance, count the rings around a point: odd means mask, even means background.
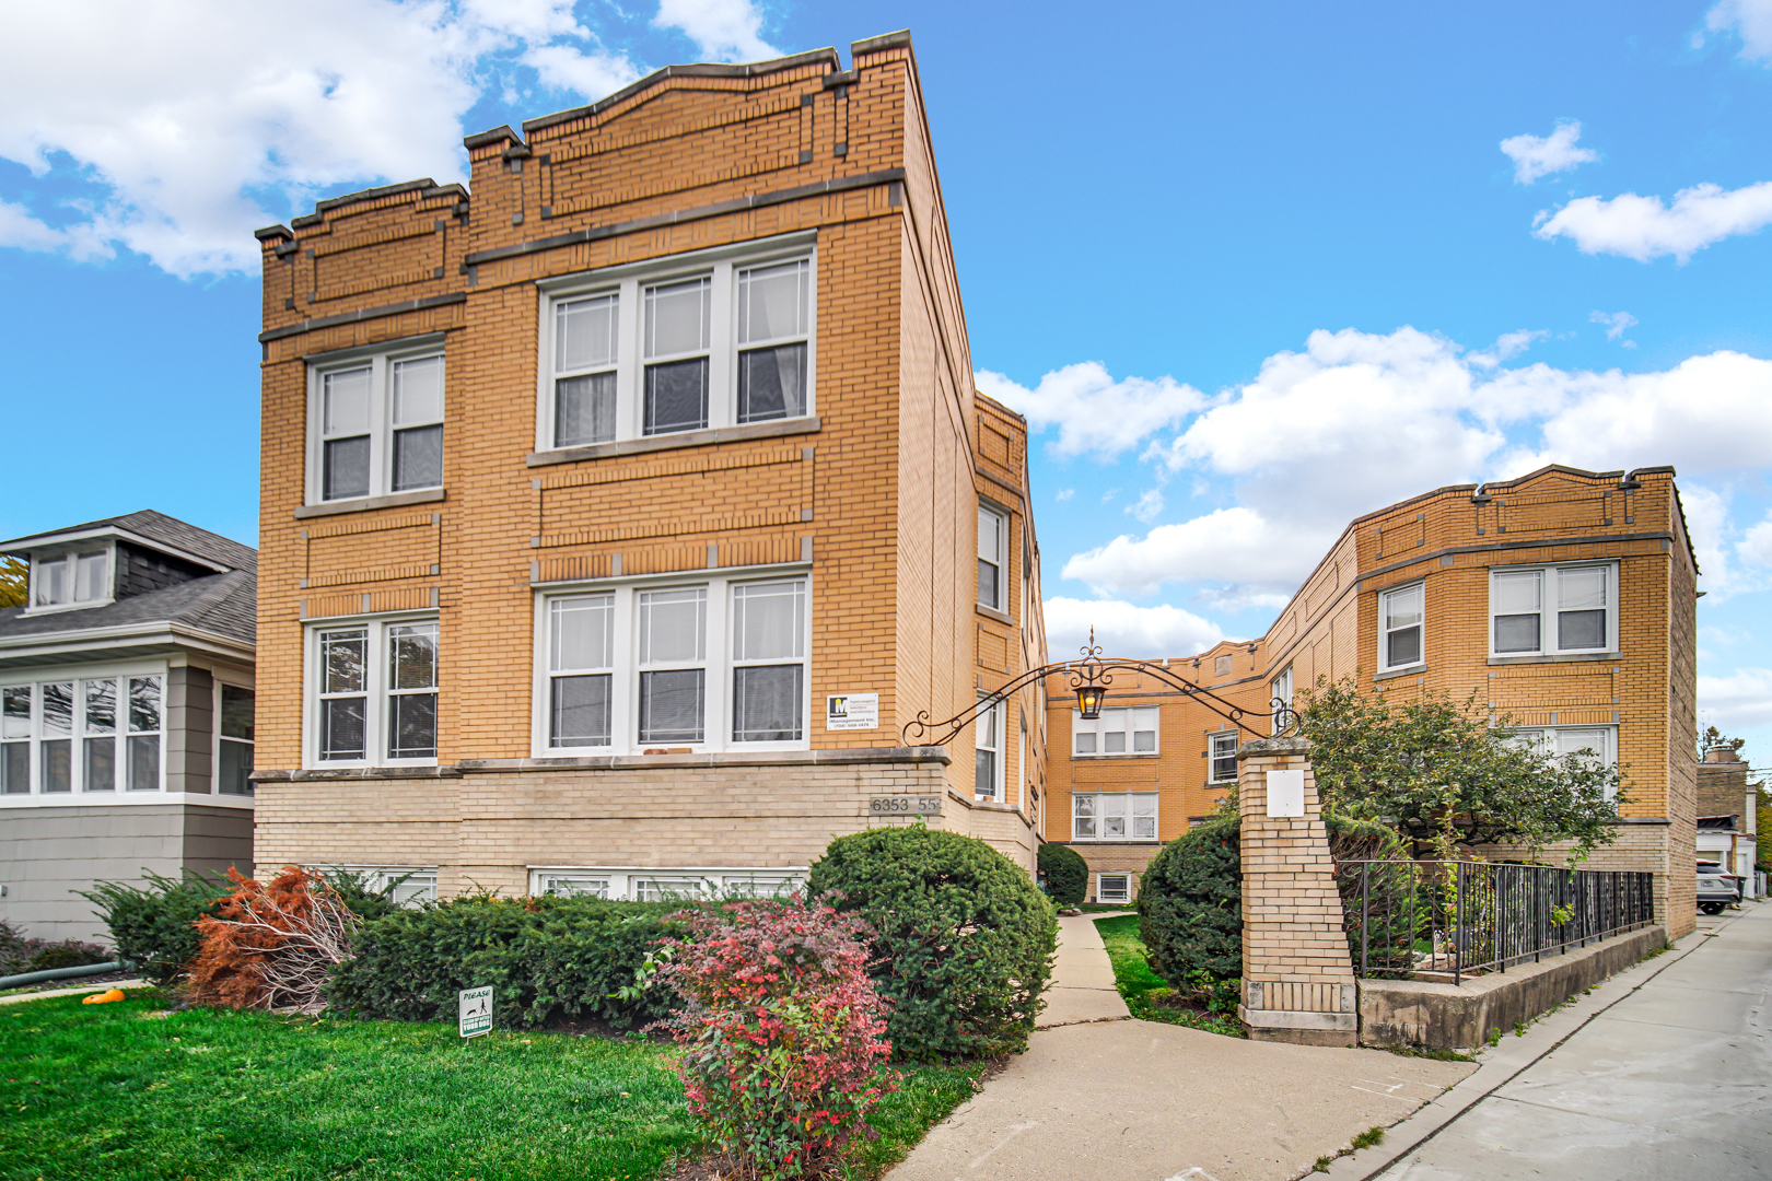
[{"label": "first-floor double window at left of the front brick building", "polygon": [[312,763],[416,765],[438,754],[438,621],[310,627]]}]

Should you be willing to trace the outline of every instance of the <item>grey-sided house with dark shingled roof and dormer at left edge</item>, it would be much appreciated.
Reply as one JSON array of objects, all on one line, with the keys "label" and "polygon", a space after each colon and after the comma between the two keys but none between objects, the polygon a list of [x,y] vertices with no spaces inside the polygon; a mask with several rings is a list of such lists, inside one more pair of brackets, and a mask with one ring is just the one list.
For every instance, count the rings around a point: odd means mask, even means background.
[{"label": "grey-sided house with dark shingled roof and dormer at left edge", "polygon": [[106,940],[73,891],[252,871],[257,552],[158,512],[0,542],[0,917]]}]

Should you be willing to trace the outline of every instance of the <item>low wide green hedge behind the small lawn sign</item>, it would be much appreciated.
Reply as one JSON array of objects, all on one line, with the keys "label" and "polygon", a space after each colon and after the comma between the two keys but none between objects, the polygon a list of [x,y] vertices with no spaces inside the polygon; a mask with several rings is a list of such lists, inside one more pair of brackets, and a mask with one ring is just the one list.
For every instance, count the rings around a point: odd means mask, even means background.
[{"label": "low wide green hedge behind the small lawn sign", "polygon": [[493,986],[498,1025],[583,1016],[627,1027],[670,1011],[664,990],[611,997],[640,976],[647,953],[680,926],[680,903],[464,894],[363,924],[356,954],[333,969],[335,1007],[402,1022],[452,1020],[455,993]]}]

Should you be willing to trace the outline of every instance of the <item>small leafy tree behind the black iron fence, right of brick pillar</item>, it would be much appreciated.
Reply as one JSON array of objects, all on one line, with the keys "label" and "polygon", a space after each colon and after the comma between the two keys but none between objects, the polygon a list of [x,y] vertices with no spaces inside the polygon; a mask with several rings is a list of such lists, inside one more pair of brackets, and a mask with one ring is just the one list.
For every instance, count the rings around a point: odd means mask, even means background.
[{"label": "small leafy tree behind the black iron fence, right of brick pillar", "polygon": [[1418,857],[1451,859],[1473,845],[1536,853],[1570,841],[1577,862],[1618,836],[1616,767],[1593,751],[1550,758],[1513,742],[1513,719],[1490,722],[1474,694],[1391,703],[1361,694],[1354,678],[1320,676],[1301,698],[1299,733],[1311,740],[1324,811],[1384,822]]}]

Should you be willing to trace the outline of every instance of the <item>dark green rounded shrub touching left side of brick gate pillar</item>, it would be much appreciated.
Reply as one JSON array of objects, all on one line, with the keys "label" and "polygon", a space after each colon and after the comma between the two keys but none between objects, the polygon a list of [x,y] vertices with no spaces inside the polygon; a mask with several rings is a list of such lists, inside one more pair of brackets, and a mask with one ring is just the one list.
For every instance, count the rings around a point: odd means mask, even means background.
[{"label": "dark green rounded shrub touching left side of brick gate pillar", "polygon": [[1198,823],[1162,846],[1138,884],[1138,937],[1152,970],[1177,992],[1242,976],[1242,855],[1235,814]]}]

